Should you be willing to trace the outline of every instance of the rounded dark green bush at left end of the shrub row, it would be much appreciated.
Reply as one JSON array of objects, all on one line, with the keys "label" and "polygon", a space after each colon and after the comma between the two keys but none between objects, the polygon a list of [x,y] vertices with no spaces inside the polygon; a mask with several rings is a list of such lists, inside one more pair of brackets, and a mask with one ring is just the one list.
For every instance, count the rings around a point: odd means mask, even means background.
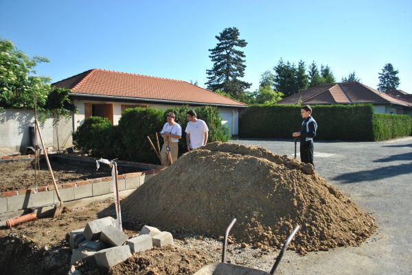
[{"label": "rounded dark green bush at left end of the shrub row", "polygon": [[104,117],[89,117],[73,133],[73,144],[89,156],[115,158],[119,152],[117,126]]}]

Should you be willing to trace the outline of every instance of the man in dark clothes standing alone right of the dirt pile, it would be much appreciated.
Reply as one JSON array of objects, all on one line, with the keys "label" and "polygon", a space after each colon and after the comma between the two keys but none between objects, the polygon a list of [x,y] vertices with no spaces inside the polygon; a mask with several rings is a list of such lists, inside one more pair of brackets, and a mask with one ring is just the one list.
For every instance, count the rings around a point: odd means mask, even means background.
[{"label": "man in dark clothes standing alone right of the dirt pile", "polygon": [[300,138],[301,162],[313,165],[313,138],[316,136],[317,123],[311,115],[312,108],[308,105],[302,106],[301,116],[304,118],[304,122],[300,132],[294,132],[292,136]]}]

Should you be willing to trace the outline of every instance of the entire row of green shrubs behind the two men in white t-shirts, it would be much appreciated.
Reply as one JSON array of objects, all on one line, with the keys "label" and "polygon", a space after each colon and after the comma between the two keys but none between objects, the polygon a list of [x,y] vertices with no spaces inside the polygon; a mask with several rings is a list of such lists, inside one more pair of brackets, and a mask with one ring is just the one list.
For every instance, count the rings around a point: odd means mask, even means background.
[{"label": "entire row of green shrubs behind the two men in white t-shirts", "polygon": [[[159,159],[148,143],[150,136],[156,145],[155,132],[160,132],[166,121],[166,114],[174,112],[176,122],[182,126],[183,137],[179,141],[179,153],[186,150],[184,130],[187,125],[186,112],[194,109],[198,119],[203,119],[209,128],[209,142],[228,141],[229,128],[222,125],[220,114],[215,107],[181,106],[168,110],[155,110],[153,108],[128,108],[124,110],[119,125],[102,117],[89,117],[73,133],[73,143],[85,154],[103,158],[120,158],[122,160],[137,161],[141,163],[157,163]],[[160,145],[163,140],[159,135]]]}]

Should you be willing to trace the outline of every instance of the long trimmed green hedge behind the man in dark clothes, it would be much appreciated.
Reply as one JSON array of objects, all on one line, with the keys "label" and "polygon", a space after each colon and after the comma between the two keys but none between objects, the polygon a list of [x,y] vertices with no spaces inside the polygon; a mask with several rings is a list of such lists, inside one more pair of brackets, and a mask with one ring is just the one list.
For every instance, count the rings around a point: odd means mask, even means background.
[{"label": "long trimmed green hedge behind the man in dark clothes", "polygon": [[[300,108],[297,105],[245,108],[240,112],[239,136],[291,139],[292,133],[300,130]],[[372,105],[319,105],[312,106],[312,110],[318,123],[317,139],[321,140],[380,141],[411,134],[409,116],[374,115]]]}]

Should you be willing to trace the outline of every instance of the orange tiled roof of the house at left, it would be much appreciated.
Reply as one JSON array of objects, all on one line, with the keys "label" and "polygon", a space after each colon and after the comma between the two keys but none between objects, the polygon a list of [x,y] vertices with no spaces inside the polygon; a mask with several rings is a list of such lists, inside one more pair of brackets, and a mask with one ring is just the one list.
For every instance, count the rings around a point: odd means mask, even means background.
[{"label": "orange tiled roof of the house at left", "polygon": [[69,88],[73,95],[102,95],[156,99],[193,104],[245,107],[246,104],[182,80],[92,69],[53,84]]}]

